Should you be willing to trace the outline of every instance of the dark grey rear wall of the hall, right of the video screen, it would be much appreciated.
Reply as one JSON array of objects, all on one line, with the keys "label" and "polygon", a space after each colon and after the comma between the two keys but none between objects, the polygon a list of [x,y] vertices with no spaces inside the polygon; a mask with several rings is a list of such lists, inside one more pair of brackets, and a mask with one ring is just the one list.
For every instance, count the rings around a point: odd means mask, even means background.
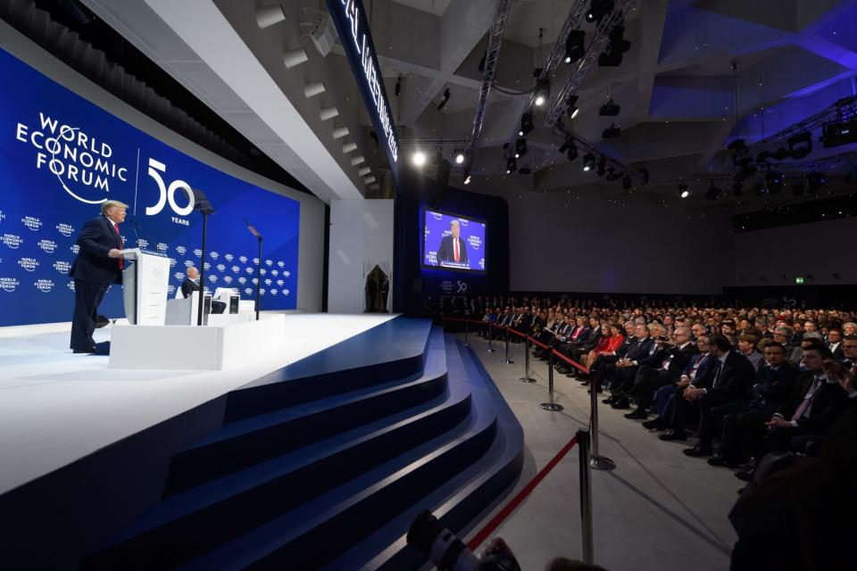
[{"label": "dark grey rear wall of the hall, right of the video screen", "polygon": [[494,180],[475,190],[509,203],[512,290],[721,294],[731,285],[725,213],[658,206],[639,196],[622,206],[602,199],[598,186],[541,193],[503,185]]}]

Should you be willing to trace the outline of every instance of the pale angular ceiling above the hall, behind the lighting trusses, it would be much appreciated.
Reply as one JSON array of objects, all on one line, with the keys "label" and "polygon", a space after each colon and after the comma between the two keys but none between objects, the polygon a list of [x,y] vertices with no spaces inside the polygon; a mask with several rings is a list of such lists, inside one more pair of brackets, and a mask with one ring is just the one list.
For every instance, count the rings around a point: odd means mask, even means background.
[{"label": "pale angular ceiling above the hall, behind the lighting trusses", "polygon": [[[544,65],[563,21],[589,2],[513,0],[495,86],[506,92],[534,87],[533,70]],[[341,47],[322,56],[309,38],[327,13],[323,0],[85,3],[323,199],[371,195],[358,174],[367,167],[371,175],[386,178]],[[262,29],[256,10],[271,4],[282,7],[285,20]],[[414,146],[451,153],[470,137],[481,81],[478,63],[497,4],[363,1],[405,159]],[[681,178],[691,187],[690,203],[730,211],[758,206],[772,197],[755,196],[752,180],[740,199],[728,191],[735,170],[726,151],[729,142],[741,137],[752,144],[855,94],[857,0],[636,0],[625,25],[630,51],[619,67],[595,65],[589,71],[576,92],[581,111],[575,120],[566,118],[565,127],[627,168],[635,188],[628,191],[621,181],[584,173],[580,159],[568,161],[558,152],[564,137],[545,128],[541,108],[537,128],[527,137],[529,152],[518,161],[532,173],[505,175],[503,145],[513,141],[530,95],[498,88],[490,92],[482,135],[473,145],[474,187],[506,176],[506,183],[513,179],[520,190],[585,186],[611,200],[663,201],[678,196]],[[584,22],[582,29],[588,45],[595,24]],[[284,52],[300,46],[309,61],[287,69]],[[556,69],[548,103],[574,67],[561,63]],[[395,96],[399,79],[401,95]],[[307,98],[304,86],[315,82],[322,82],[325,92]],[[450,100],[438,111],[446,88]],[[610,97],[620,114],[600,117],[598,109]],[[320,120],[320,110],[329,107],[336,107],[338,116]],[[603,140],[611,122],[621,135]],[[335,139],[334,128],[347,128],[349,135]],[[348,142],[357,148],[345,153]],[[358,157],[365,160],[354,165]],[[842,192],[845,174],[857,167],[857,145],[822,149],[816,143],[805,161],[832,169],[824,192]],[[652,178],[646,186],[637,176],[641,168]],[[794,164],[785,170],[796,172]],[[701,196],[712,181],[725,189],[714,203]],[[461,183],[453,175],[451,184]],[[788,194],[786,189],[778,198],[791,199]]]}]

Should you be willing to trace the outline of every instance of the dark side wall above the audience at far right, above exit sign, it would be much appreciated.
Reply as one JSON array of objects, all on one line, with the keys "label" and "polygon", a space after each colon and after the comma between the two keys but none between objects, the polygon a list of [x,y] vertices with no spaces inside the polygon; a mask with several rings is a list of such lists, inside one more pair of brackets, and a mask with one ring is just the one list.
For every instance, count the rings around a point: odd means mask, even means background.
[{"label": "dark side wall above the audience at far right, above exit sign", "polygon": [[795,285],[795,276],[812,276],[808,285],[857,284],[855,237],[857,218],[736,234],[735,285]]}]

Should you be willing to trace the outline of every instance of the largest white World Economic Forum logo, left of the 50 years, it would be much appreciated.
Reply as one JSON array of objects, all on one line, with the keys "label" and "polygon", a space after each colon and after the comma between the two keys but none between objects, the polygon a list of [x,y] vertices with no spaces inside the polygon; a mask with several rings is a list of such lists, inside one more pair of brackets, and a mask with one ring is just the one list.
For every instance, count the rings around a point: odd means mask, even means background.
[{"label": "largest white World Economic Forum logo, left of the 50 years", "polygon": [[111,145],[59,116],[39,112],[37,120],[18,123],[15,139],[33,148],[36,170],[47,171],[81,203],[104,203],[111,183],[128,182],[128,166],[113,159]]}]

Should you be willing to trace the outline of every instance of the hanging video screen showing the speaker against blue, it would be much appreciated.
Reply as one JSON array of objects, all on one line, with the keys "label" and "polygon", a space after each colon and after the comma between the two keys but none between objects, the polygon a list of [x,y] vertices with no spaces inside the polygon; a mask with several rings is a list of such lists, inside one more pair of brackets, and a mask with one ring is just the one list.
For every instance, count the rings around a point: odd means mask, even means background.
[{"label": "hanging video screen showing the speaker against blue", "polygon": [[422,267],[485,272],[485,221],[423,210]]}]

